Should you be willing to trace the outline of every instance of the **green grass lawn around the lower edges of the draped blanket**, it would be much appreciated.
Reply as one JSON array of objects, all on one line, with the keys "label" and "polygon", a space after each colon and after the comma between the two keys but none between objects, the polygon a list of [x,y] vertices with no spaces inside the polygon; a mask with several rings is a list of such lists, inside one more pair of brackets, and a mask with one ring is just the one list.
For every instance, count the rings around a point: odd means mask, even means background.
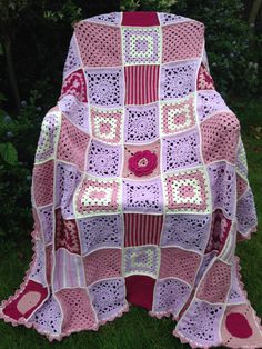
[{"label": "green grass lawn around the lower edges of the draped blanket", "polygon": [[[259,231],[251,240],[236,246],[236,255],[241,258],[241,273],[249,300],[258,316],[262,318],[262,102],[234,101],[230,108],[241,122],[241,134],[249,163],[249,180],[259,216]],[[22,282],[32,252],[29,235],[26,232],[24,240],[18,243],[3,241],[1,251],[0,300],[7,299]],[[98,332],[72,333],[61,342],[49,343],[46,337],[33,329],[23,326],[14,328],[0,320],[0,349],[42,349],[51,346],[67,349],[190,348],[188,345],[181,345],[180,340],[172,336],[175,323],[171,318],[161,320],[151,318],[145,309],[132,306],[129,312],[101,326]]]}]

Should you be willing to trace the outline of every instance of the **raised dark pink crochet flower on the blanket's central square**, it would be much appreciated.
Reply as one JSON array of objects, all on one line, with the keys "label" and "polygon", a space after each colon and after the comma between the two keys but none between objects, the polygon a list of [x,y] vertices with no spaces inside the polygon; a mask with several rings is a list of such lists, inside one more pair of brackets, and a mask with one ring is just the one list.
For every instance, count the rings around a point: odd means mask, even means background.
[{"label": "raised dark pink crochet flower on the blanket's central square", "polygon": [[137,151],[129,158],[129,169],[138,177],[152,173],[157,166],[158,157],[150,150]]}]

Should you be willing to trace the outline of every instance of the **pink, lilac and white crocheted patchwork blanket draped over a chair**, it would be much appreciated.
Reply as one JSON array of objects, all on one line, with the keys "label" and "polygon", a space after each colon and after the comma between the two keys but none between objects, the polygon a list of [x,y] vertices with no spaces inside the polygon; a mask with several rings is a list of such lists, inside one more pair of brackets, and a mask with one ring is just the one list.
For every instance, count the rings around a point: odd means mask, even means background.
[{"label": "pink, lilac and white crocheted patchwork blanket draped over a chair", "polygon": [[204,29],[157,11],[74,24],[36,150],[33,257],[4,321],[52,341],[139,306],[192,348],[262,347],[235,256],[254,197]]}]

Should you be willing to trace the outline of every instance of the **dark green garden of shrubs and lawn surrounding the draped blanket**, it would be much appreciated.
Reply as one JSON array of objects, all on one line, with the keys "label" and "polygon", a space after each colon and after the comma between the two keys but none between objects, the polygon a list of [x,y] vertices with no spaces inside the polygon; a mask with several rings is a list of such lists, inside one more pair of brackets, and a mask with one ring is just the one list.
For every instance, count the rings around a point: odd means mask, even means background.
[{"label": "dark green garden of shrubs and lawn surrounding the draped blanket", "polygon": [[[72,24],[111,11],[165,11],[205,24],[216,90],[241,122],[259,230],[240,242],[249,299],[262,318],[262,0],[0,0],[0,300],[22,282],[32,256],[30,186],[41,121],[52,108]],[[175,323],[131,307],[124,317],[52,343],[53,348],[190,348],[172,336]],[[0,321],[0,348],[49,348],[34,330]]]}]

